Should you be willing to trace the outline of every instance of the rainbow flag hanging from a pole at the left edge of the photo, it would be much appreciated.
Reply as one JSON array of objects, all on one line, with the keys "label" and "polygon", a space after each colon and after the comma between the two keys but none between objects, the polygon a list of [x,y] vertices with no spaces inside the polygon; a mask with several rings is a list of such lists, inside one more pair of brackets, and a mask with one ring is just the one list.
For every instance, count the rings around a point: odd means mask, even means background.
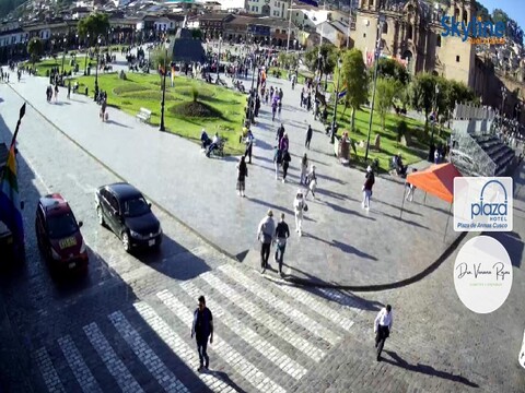
[{"label": "rainbow flag hanging from a pole at the left edge of the photo", "polygon": [[0,181],[0,221],[2,221],[13,234],[19,246],[24,245],[24,224],[19,198],[19,182],[16,178],[15,143],[11,144],[8,155],[8,164],[3,169]]}]

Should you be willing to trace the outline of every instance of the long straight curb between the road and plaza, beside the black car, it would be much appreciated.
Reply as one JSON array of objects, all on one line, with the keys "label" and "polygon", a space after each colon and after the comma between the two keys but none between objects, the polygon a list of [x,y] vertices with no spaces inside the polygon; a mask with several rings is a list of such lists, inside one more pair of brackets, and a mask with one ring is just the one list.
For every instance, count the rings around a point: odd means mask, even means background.
[{"label": "long straight curb between the road and plaza, beside the black car", "polygon": [[[38,109],[35,108],[35,106],[33,104],[31,104],[24,96],[22,96],[22,94],[20,94],[13,86],[11,86],[11,84],[9,84],[9,87],[19,96],[21,97],[31,108],[33,108],[33,110],[35,112],[37,112],[39,116],[42,116],[49,124],[51,124],[58,132],[60,132],[63,136],[66,136],[69,141],[71,141],[71,143],[73,143],[77,147],[79,147],[82,152],[84,152],[85,154],[88,154],[91,158],[93,158],[95,162],[97,162],[100,165],[102,165],[107,171],[109,171],[113,176],[117,177],[119,180],[121,181],[126,181],[127,180],[120,176],[119,174],[117,174],[115,170],[113,170],[109,166],[107,166],[105,163],[103,163],[101,159],[98,159],[95,155],[93,155],[90,151],[88,151],[84,146],[82,146],[80,143],[78,143],[74,139],[72,139],[71,136],[69,136],[66,132],[63,132],[57,124],[55,124],[49,118],[47,118],[42,111],[39,111]],[[159,132],[162,132],[162,131],[159,131]],[[175,134],[174,134],[175,136]],[[148,194],[144,193],[144,196],[151,201],[156,209],[159,209],[161,212],[163,212],[164,214],[166,214],[170,218],[173,218],[175,219],[178,224],[180,224],[184,228],[186,228],[187,230],[189,230],[191,234],[194,234],[195,236],[197,236],[199,239],[201,239],[205,243],[207,243],[208,246],[210,246],[211,248],[215,249],[217,251],[221,252],[222,254],[229,257],[230,259],[236,261],[236,262],[240,262],[237,257],[231,254],[230,252],[228,252],[226,250],[224,250],[222,247],[215,245],[213,241],[207,239],[206,237],[203,237],[201,234],[199,234],[197,230],[195,230],[192,227],[190,227],[188,224],[186,224],[185,222],[183,222],[180,218],[176,217],[175,215],[173,215],[170,211],[167,211],[166,209],[164,209],[160,203],[158,203],[154,199],[150,198]]]}]

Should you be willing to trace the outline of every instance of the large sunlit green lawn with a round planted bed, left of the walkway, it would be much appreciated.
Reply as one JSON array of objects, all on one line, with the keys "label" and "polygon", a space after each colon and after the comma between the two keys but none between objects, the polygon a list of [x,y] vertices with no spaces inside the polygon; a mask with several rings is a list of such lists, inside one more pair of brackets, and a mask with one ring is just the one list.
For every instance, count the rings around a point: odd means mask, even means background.
[{"label": "large sunlit green lawn with a round planted bed, left of the walkway", "polygon": [[[141,107],[152,111],[151,123],[160,124],[161,78],[158,74],[126,73],[127,80],[118,79],[117,73],[98,74],[98,86],[107,92],[107,103],[130,115],[137,115]],[[74,80],[73,80],[74,81]],[[93,96],[94,76],[78,78],[80,91],[85,86]],[[198,100],[214,109],[215,117],[182,116],[173,112],[174,107],[191,103],[194,87],[198,91]],[[238,144],[242,130],[246,95],[235,93],[222,86],[211,85],[183,76],[175,78],[174,87],[166,79],[165,127],[170,132],[200,143],[200,133],[206,128],[210,138],[215,133],[226,138],[226,154],[242,154],[244,146]]]}]

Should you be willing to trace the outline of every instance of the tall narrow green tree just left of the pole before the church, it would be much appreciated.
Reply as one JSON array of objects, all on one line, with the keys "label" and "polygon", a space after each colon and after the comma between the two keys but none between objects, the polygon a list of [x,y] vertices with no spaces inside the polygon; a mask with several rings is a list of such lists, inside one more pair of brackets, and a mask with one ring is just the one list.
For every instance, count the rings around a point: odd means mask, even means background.
[{"label": "tall narrow green tree just left of the pole before the church", "polygon": [[347,91],[343,114],[348,107],[352,108],[350,123],[353,131],[355,129],[355,110],[365,104],[369,97],[369,78],[361,50],[354,48],[343,52],[341,80]]}]

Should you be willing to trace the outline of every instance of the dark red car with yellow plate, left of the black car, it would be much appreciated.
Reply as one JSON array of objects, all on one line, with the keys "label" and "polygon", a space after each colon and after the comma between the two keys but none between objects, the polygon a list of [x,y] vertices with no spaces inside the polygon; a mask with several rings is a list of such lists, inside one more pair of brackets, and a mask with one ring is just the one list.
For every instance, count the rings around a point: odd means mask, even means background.
[{"label": "dark red car with yellow plate, left of the black car", "polygon": [[36,207],[35,233],[38,247],[57,269],[85,269],[88,251],[68,201],[59,193],[40,198]]}]

